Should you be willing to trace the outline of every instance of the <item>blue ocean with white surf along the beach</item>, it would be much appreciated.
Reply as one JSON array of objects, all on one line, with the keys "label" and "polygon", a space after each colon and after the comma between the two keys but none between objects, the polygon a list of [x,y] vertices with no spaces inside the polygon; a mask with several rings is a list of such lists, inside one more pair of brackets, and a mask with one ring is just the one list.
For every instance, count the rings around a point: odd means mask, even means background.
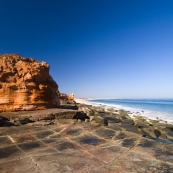
[{"label": "blue ocean with white surf along the beach", "polygon": [[173,99],[95,99],[89,102],[173,122]]}]

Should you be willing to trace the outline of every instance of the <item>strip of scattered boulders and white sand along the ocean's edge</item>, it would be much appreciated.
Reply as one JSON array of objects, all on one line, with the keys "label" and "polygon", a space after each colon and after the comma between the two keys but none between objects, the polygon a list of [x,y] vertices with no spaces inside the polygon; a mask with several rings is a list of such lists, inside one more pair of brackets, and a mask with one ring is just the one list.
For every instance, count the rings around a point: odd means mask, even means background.
[{"label": "strip of scattered boulders and white sand along the ocean's edge", "polygon": [[79,110],[104,126],[123,127],[127,131],[141,134],[143,137],[173,144],[173,123],[162,119],[151,119],[124,109],[92,103],[86,100],[75,100]]}]

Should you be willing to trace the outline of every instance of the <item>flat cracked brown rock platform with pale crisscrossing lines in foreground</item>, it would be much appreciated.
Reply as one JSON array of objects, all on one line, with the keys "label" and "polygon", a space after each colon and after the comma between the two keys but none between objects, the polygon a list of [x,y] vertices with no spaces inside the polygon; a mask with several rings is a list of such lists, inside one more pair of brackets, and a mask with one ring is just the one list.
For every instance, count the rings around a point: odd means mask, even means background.
[{"label": "flat cracked brown rock platform with pale crisscrossing lines in foreground", "polygon": [[0,127],[0,173],[59,172],[172,173],[173,145],[118,124]]}]

